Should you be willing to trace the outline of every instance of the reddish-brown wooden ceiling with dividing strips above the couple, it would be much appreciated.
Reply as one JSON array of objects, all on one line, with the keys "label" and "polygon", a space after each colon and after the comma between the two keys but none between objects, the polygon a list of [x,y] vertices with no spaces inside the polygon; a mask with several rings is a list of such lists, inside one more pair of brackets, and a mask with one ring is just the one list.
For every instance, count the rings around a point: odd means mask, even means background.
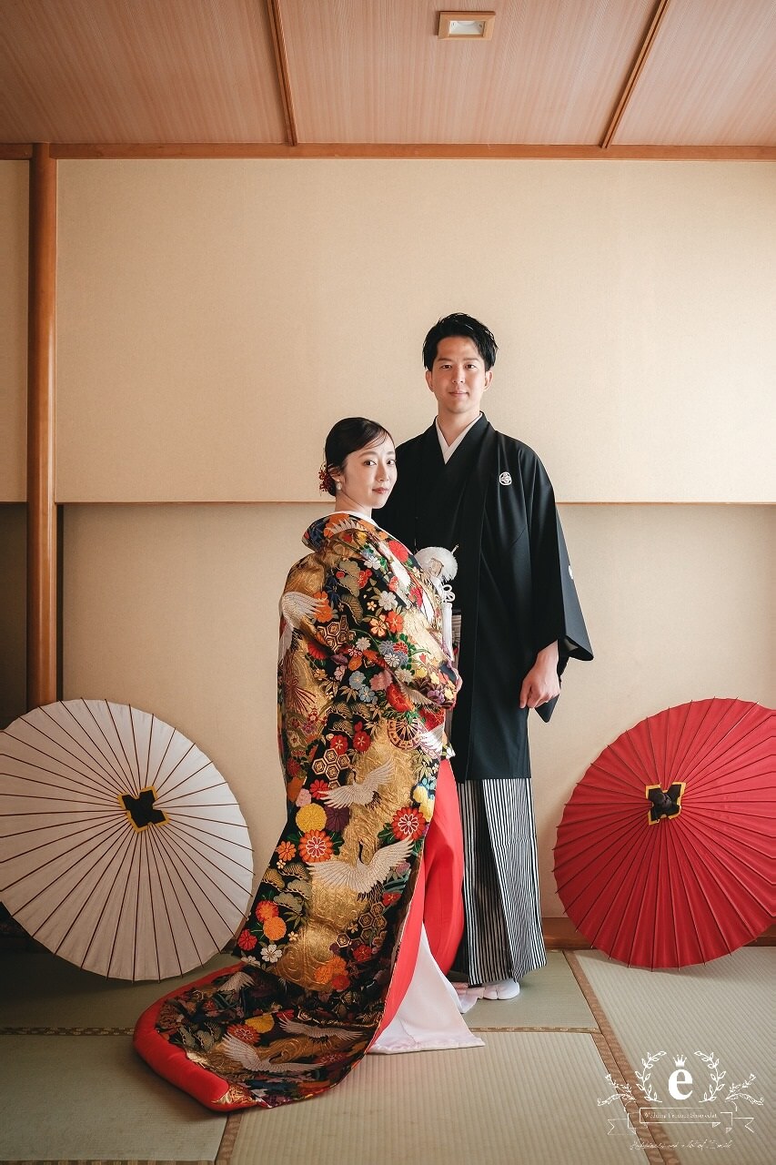
[{"label": "reddish-brown wooden ceiling with dividing strips above the couple", "polygon": [[3,156],[776,157],[776,0],[488,7],[1,0]]}]

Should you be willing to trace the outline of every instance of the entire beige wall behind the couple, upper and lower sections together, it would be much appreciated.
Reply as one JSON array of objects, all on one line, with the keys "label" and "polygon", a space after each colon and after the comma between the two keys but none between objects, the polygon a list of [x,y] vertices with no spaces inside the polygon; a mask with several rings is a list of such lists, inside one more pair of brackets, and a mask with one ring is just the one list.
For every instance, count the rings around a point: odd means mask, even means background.
[{"label": "entire beige wall behind the couple, upper and lower sections together", "polygon": [[[58,189],[63,694],[193,739],[259,868],[283,819],[276,603],[320,511],[323,436],[353,411],[397,439],[429,423],[418,348],[438,315],[493,326],[488,415],[562,500],[774,499],[775,165],[96,161],[61,163]],[[24,163],[0,164],[0,500],[16,501]],[[155,500],[260,504],[99,504]],[[20,513],[0,534],[17,541]],[[597,659],[532,732],[545,915],[563,805],[614,736],[687,699],[776,702],[773,509],[563,516]]]}]

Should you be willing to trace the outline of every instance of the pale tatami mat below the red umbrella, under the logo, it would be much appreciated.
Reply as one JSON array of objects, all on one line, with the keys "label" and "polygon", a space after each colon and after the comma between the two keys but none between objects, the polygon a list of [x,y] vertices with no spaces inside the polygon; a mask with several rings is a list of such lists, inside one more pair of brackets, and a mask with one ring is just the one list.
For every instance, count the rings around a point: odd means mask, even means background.
[{"label": "pale tatami mat below the red umbrella, under the logo", "polygon": [[[569,958],[577,960],[633,1068],[649,1071],[662,1101],[662,1127],[683,1165],[697,1160],[703,1149],[725,1165],[770,1165],[776,1144],[776,949],[745,947],[706,966],[652,972],[594,951]],[[644,1066],[650,1057],[656,1059]],[[680,1092],[692,1088],[682,1102],[669,1092],[679,1057],[692,1076],[680,1085]],[[727,1100],[731,1085],[749,1076],[755,1078],[747,1089],[752,1100]],[[715,1094],[713,1101],[704,1101],[710,1094]],[[761,1099],[762,1104],[754,1103]],[[687,1110],[698,1123],[686,1123]],[[712,1117],[719,1121],[715,1128]]]}]

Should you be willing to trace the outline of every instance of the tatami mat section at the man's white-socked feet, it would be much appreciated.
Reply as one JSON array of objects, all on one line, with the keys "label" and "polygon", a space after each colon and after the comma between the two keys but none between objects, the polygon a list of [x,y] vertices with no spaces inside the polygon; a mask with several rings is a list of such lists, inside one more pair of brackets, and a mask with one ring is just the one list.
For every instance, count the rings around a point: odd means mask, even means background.
[{"label": "tatami mat section at the man's white-socked feet", "polygon": [[503,1028],[585,1028],[595,1021],[560,951],[550,951],[546,967],[527,975],[516,1000],[479,1000],[466,1015],[478,1031]]}]

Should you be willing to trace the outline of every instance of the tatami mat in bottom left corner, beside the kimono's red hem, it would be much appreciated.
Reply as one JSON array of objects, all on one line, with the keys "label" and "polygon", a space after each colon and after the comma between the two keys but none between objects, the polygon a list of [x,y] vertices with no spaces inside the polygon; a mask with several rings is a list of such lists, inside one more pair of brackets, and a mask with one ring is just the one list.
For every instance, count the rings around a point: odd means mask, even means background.
[{"label": "tatami mat in bottom left corner, beside the kimono's red hem", "polygon": [[0,1159],[214,1160],[226,1118],[155,1076],[128,1036],[0,1036]]}]

